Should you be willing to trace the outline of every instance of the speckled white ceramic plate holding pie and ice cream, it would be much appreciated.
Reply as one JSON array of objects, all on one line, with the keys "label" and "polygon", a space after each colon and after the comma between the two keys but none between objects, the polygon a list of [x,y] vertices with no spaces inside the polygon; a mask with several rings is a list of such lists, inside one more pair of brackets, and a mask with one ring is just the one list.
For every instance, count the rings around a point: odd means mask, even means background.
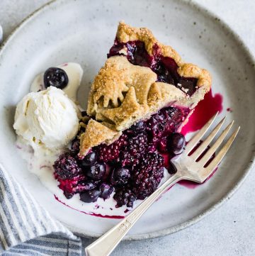
[{"label": "speckled white ceramic plate holding pie and ice cream", "polygon": [[[174,0],[64,0],[53,1],[35,12],[8,38],[0,53],[0,162],[72,231],[96,237],[118,222],[88,216],[57,202],[17,155],[12,124],[15,106],[28,92],[35,74],[52,65],[67,61],[82,65],[79,100],[85,102],[120,20],[150,28],[186,62],[210,70],[213,92],[224,97],[222,115],[227,113],[229,120],[234,118],[242,126],[234,147],[210,181],[193,190],[176,185],[147,211],[126,238],[142,239],[173,233],[210,213],[233,194],[254,159],[253,60],[237,35],[208,11]],[[232,113],[226,112],[228,107]]]}]

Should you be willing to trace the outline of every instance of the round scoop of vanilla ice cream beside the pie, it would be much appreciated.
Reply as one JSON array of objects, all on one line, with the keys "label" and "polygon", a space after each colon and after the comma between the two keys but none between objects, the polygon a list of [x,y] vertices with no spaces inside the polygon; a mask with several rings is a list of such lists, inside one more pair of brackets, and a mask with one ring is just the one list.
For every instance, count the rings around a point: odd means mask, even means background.
[{"label": "round scoop of vanilla ice cream beside the pie", "polygon": [[67,145],[79,129],[78,108],[61,89],[30,92],[18,103],[13,128],[33,147]]}]

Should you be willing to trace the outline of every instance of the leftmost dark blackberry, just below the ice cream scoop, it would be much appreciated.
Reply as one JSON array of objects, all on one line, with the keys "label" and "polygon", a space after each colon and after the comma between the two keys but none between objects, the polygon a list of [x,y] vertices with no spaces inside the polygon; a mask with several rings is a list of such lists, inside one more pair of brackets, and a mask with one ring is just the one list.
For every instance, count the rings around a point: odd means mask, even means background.
[{"label": "leftmost dark blackberry, just below the ice cream scoop", "polygon": [[71,179],[81,174],[81,168],[73,152],[65,152],[55,161],[53,165],[55,175],[60,179]]}]

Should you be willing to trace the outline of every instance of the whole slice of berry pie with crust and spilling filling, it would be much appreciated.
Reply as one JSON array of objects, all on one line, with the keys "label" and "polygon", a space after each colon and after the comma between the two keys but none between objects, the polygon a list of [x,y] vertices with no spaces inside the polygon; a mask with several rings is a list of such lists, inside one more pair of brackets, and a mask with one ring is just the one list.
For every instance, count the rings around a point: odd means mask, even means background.
[{"label": "whole slice of berry pie with crust and spilling filling", "polygon": [[[92,84],[80,140],[55,162],[60,188],[86,202],[108,199],[113,191],[117,206],[145,199],[164,168],[174,173],[169,160],[185,145],[181,127],[210,86],[208,71],[183,62],[147,28],[120,22]],[[67,165],[69,177],[62,175]]]}]

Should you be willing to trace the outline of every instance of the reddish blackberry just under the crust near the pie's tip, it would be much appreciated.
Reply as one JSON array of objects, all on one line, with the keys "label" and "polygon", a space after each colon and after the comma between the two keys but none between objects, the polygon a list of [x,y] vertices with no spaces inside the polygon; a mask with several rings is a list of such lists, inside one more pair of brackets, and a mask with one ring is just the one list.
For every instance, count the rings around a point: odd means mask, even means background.
[{"label": "reddish blackberry just under the crust near the pie's tip", "polygon": [[117,160],[120,155],[120,149],[127,144],[127,139],[128,136],[123,134],[111,145],[99,145],[97,148],[98,159],[103,162]]}]

